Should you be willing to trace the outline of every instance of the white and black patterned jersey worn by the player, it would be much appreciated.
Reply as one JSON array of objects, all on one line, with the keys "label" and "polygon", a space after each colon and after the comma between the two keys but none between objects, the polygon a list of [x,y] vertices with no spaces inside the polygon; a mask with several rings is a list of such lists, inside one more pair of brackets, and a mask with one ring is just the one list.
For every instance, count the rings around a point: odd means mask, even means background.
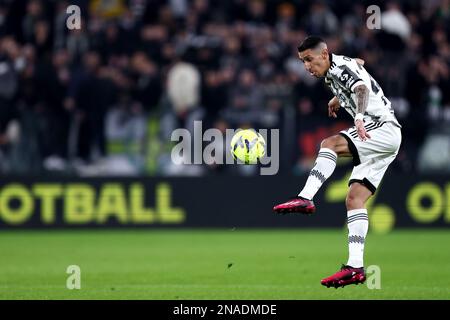
[{"label": "white and black patterned jersey worn by the player", "polygon": [[364,113],[364,121],[391,121],[401,127],[394,115],[391,102],[387,99],[381,87],[366,69],[355,59],[330,54],[330,68],[325,75],[325,83],[339,99],[343,107],[353,118],[356,115],[355,88],[364,84],[369,89],[369,103]]}]

